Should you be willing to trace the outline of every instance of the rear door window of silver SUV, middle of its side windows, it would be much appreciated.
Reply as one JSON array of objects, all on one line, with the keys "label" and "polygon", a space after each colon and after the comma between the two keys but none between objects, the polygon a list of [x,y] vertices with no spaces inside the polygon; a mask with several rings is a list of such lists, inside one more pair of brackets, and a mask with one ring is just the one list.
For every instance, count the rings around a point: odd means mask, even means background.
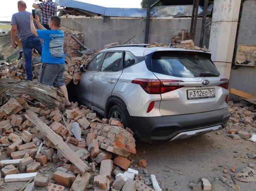
[{"label": "rear door window of silver SUV, middle of its side windows", "polygon": [[121,70],[122,52],[107,52],[103,60],[101,71]]}]

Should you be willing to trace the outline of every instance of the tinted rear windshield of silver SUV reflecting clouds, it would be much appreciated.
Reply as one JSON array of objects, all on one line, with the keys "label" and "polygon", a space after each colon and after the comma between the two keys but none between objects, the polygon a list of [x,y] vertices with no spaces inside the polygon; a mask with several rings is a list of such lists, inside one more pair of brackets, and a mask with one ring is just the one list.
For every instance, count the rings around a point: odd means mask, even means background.
[{"label": "tinted rear windshield of silver SUV reflecting clouds", "polygon": [[152,55],[153,72],[176,77],[219,76],[213,62],[202,54],[170,54],[156,52]]}]

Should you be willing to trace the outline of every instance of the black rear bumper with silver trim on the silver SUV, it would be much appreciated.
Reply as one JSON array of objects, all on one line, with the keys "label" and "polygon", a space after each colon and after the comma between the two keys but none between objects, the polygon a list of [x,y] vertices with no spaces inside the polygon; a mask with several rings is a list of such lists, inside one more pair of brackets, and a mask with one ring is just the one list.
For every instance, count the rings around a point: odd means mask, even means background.
[{"label": "black rear bumper with silver trim on the silver SUV", "polygon": [[169,141],[224,128],[229,116],[228,108],[184,115],[129,116],[129,127],[141,140]]}]

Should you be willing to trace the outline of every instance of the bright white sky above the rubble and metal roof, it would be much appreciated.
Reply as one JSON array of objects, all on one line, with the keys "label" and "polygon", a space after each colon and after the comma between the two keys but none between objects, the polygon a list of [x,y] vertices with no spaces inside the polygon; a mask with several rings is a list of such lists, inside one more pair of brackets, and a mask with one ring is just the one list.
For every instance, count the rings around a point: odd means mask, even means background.
[{"label": "bright white sky above the rubble and metal roof", "polygon": [[[18,12],[18,3],[19,0],[8,0],[5,5],[2,4],[0,11],[0,21],[11,21],[12,15]],[[33,2],[35,0],[24,0],[27,4],[27,11],[31,12]],[[53,0],[55,2],[55,0]],[[142,0],[77,0],[81,2],[87,2],[91,4],[96,4],[99,6],[105,7],[120,7],[120,8],[141,8]]]}]

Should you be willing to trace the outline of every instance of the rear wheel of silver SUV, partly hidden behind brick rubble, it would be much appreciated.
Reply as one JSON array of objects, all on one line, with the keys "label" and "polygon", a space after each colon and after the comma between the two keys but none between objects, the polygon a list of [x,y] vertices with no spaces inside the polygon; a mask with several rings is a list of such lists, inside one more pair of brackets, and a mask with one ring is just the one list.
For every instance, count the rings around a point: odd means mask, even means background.
[{"label": "rear wheel of silver SUV, partly hidden behind brick rubble", "polygon": [[118,118],[118,120],[123,124],[124,128],[129,127],[125,112],[119,105],[114,105],[111,107],[108,114],[108,119],[110,118]]}]

